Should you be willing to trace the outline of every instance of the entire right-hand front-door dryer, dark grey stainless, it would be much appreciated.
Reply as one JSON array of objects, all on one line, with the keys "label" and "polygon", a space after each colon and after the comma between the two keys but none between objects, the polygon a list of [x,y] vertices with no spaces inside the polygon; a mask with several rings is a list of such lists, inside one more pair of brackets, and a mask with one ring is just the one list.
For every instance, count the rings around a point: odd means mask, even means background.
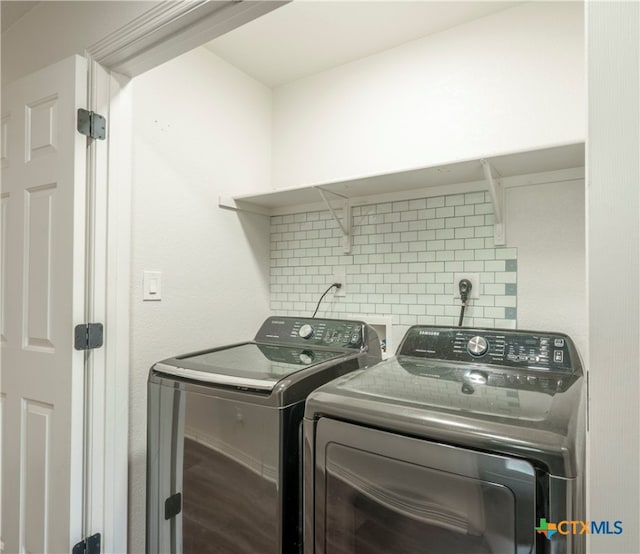
[{"label": "entire right-hand front-door dryer, dark grey stainless", "polygon": [[583,389],[564,334],[411,327],[307,399],[305,553],[582,552],[542,531],[584,519]]}]

